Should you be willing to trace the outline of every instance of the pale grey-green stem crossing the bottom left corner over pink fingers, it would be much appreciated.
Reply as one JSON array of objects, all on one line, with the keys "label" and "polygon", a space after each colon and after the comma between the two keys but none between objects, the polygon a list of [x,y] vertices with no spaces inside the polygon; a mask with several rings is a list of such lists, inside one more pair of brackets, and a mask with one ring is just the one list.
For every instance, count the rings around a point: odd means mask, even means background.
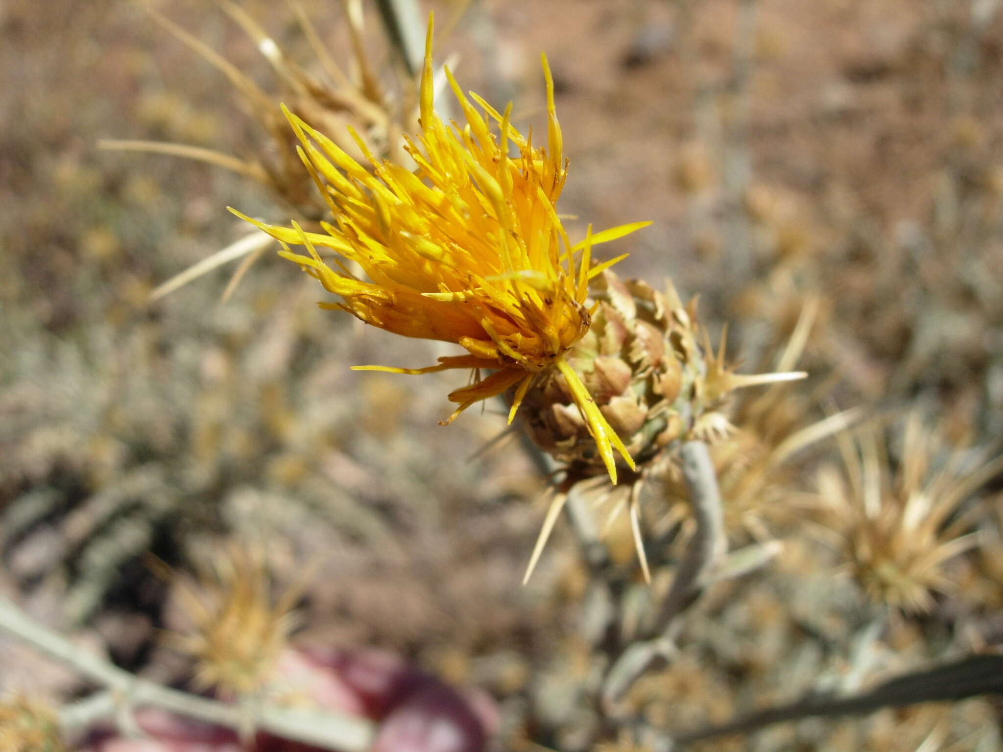
[{"label": "pale grey-green stem crossing the bottom left corner over pink fingers", "polygon": [[[78,648],[5,599],[0,599],[0,633],[6,633],[30,645],[39,653],[68,666],[120,697],[121,703],[111,702],[109,697],[95,701],[95,705],[107,708],[109,712],[121,705],[128,708],[151,705],[238,731],[243,731],[248,726],[246,708],[196,697],[139,679],[93,653]],[[90,717],[94,709],[88,710],[91,712],[86,715]],[[77,725],[77,715],[69,714],[64,719],[67,722],[64,728],[69,730],[69,727]],[[254,713],[252,720],[255,728],[262,731],[341,752],[364,752],[369,748],[374,735],[373,725],[369,721],[331,712],[263,707]]]}]

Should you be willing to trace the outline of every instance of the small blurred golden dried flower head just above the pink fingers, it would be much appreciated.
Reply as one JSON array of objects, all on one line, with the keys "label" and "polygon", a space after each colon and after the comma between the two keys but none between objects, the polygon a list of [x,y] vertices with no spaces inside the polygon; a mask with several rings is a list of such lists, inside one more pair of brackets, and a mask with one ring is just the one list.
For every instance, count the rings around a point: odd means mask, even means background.
[{"label": "small blurred golden dried flower head just above the pink fingers", "polygon": [[171,644],[196,659],[195,682],[225,697],[245,697],[269,683],[276,661],[297,626],[293,607],[302,584],[273,599],[261,553],[236,544],[213,562],[197,590],[182,587],[188,634]]}]

